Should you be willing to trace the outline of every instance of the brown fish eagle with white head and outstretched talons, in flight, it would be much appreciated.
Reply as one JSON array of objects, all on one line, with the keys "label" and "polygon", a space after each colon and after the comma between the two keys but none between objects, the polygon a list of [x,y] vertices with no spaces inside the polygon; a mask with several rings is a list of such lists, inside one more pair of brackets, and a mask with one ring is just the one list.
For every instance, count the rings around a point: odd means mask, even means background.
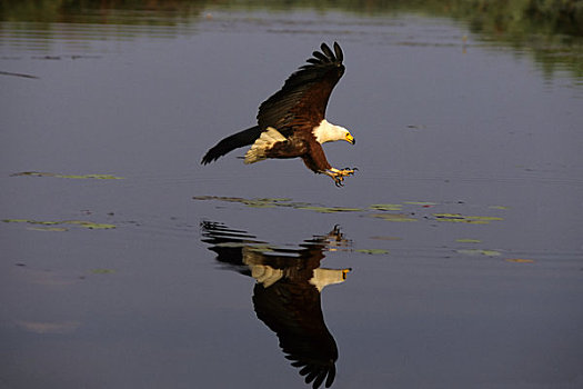
[{"label": "brown fish eagle with white head and outstretched talons, in flight", "polygon": [[244,163],[268,158],[301,158],[308,169],[331,177],[342,186],[355,169],[335,169],[326,160],[322,143],[354,137],[343,127],[324,118],[332,89],[344,73],[344,54],[334,42],[334,51],[322,43],[308,63],[285,80],[282,89],[259,107],[258,126],[224,138],[211,148],[201,163],[210,163],[228,152],[251,144]]}]

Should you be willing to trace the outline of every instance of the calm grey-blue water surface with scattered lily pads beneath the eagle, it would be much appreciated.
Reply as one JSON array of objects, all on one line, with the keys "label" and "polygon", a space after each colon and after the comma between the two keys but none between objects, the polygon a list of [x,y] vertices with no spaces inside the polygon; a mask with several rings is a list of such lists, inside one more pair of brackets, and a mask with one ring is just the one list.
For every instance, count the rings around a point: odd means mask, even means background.
[{"label": "calm grey-blue water surface with scattered lily pads beneath the eagle", "polygon": [[[199,164],[333,40],[344,188]],[[0,388],[579,388],[583,79],[547,60],[419,13],[2,22]]]}]

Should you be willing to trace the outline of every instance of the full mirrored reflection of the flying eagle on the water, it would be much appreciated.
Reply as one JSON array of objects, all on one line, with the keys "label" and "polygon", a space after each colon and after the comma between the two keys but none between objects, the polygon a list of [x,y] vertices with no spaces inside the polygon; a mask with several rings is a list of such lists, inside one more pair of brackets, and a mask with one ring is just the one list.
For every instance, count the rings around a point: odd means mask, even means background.
[{"label": "full mirrored reflection of the flying eagle on the water", "polygon": [[322,269],[323,251],[350,242],[334,228],[325,237],[305,240],[299,249],[269,247],[244,231],[203,222],[202,241],[212,245],[217,260],[257,279],[253,308],[278,335],[280,347],[305,382],[329,388],[335,377],[338,348],[322,315],[320,292],[343,282],[350,269]]}]

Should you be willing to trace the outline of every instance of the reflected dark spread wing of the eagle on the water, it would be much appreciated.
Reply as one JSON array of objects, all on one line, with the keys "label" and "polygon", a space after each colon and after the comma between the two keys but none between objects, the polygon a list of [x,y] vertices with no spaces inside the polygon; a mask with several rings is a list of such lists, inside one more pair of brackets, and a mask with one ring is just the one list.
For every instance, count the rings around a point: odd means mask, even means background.
[{"label": "reflected dark spread wing of the eagle on the water", "polygon": [[334,381],[338,348],[328,330],[320,306],[320,292],[308,283],[282,280],[264,288],[257,283],[253,305],[258,318],[278,335],[280,347],[305,382],[319,388]]}]

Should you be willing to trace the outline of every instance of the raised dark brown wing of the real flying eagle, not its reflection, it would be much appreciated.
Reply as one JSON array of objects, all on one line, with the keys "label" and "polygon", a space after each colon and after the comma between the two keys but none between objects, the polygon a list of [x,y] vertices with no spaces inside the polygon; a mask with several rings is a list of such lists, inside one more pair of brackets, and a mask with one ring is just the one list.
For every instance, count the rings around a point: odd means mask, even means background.
[{"label": "raised dark brown wing of the real flying eagle, not its reflection", "polygon": [[344,73],[344,56],[336,42],[334,51],[325,43],[320,48],[322,52],[314,51],[308,63],[291,74],[281,90],[259,107],[261,130],[268,127],[282,130],[294,124],[306,124],[311,130],[324,119],[332,89]]}]

